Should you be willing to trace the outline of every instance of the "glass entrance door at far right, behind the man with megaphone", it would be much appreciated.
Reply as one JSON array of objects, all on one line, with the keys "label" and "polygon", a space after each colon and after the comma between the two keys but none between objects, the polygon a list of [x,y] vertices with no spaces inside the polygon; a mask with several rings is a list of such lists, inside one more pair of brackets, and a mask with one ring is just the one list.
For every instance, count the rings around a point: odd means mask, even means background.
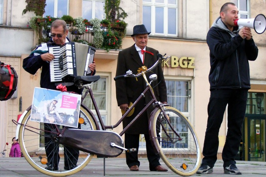
[{"label": "glass entrance door at far right, behind the man with megaphone", "polygon": [[246,115],[245,117],[245,160],[265,162],[266,115]]}]

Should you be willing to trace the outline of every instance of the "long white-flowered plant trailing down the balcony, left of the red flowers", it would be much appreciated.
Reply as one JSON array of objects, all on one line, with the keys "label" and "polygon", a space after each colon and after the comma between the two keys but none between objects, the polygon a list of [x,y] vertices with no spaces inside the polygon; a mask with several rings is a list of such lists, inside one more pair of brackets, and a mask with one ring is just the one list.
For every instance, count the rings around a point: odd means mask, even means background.
[{"label": "long white-flowered plant trailing down the balcony, left of the red flowers", "polygon": [[101,21],[98,18],[94,18],[91,19],[90,23],[94,31],[93,43],[95,45],[95,48],[100,49],[103,42],[103,36],[101,32]]}]

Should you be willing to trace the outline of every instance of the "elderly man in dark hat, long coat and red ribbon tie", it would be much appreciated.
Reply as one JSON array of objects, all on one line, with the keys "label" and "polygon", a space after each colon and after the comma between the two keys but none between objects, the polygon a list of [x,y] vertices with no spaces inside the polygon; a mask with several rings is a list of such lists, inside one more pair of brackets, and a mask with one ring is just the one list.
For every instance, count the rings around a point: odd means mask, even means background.
[{"label": "elderly man in dark hat, long coat and red ribbon tie", "polygon": [[[148,32],[144,25],[136,25],[133,28],[133,34],[131,35],[135,42],[129,48],[126,48],[119,52],[116,68],[116,76],[123,75],[126,71],[131,70],[133,74],[138,73],[138,69],[141,66],[150,68],[157,61],[158,50],[147,47]],[[151,74],[157,74],[158,79],[152,82],[152,87],[155,92],[156,98],[162,102],[167,103],[166,84],[163,75],[162,66],[159,65],[151,73],[147,73],[147,77]],[[116,80],[116,99],[121,111],[126,111],[129,103],[134,103],[140,94],[144,91],[146,83],[142,77],[135,79],[133,77],[127,77]],[[145,107],[145,104],[150,102],[150,95],[145,94],[145,98],[142,98],[136,105],[133,114],[126,117],[123,120],[123,127],[125,128],[134,117]],[[138,160],[138,148],[140,142],[140,134],[144,134],[146,141],[147,158],[149,160],[150,171],[167,171],[160,165],[160,156],[155,154],[150,142],[148,132],[148,119],[152,108],[149,108],[137,122],[132,124],[131,128],[125,133],[125,147],[136,148],[137,151],[132,153],[126,152],[126,164],[131,171],[138,171],[140,161]]]}]

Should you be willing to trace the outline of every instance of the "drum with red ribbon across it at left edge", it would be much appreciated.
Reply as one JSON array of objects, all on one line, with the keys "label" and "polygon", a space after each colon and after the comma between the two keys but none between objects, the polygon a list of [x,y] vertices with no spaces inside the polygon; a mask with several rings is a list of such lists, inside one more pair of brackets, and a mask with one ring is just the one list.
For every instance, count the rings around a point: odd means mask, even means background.
[{"label": "drum with red ribbon across it at left edge", "polygon": [[0,62],[0,101],[11,98],[17,89],[17,78],[13,67]]}]

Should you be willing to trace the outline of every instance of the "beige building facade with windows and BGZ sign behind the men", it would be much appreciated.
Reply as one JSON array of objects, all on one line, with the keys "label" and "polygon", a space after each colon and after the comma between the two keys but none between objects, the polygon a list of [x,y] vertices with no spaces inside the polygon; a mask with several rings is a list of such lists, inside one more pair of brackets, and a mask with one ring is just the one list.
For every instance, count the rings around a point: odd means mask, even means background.
[{"label": "beige building facade with windows and BGZ sign behind the men", "polygon": [[[123,39],[122,49],[134,44],[133,26],[145,24],[149,35],[148,46],[159,50],[161,54],[171,56],[164,65],[168,102],[179,109],[195,127],[201,148],[207,124],[207,105],[209,101],[209,48],[206,43],[207,32],[219,17],[220,7],[225,0],[121,0],[128,14],[127,35]],[[239,7],[241,18],[254,18],[266,14],[266,2],[261,0],[232,0]],[[47,0],[46,14],[52,17],[71,15],[72,17],[104,18],[104,0]],[[0,61],[10,64],[17,71],[17,93],[12,99],[0,102],[0,148],[6,142],[11,143],[16,133],[12,119],[22,114],[32,104],[34,87],[39,87],[39,70],[35,75],[22,68],[22,61],[37,45],[36,32],[27,27],[29,19],[35,14],[27,12],[24,0],[0,0]],[[100,8],[101,7],[101,8]],[[266,144],[266,33],[257,34],[252,29],[256,45],[259,48],[257,60],[249,62],[251,89],[243,125],[243,141],[239,149],[239,159],[265,161]],[[101,79],[93,86],[101,117],[106,125],[114,125],[121,118],[116,102],[116,88],[113,78],[116,74],[119,50],[97,49],[95,54],[97,75]],[[94,111],[90,100],[86,105]],[[221,158],[227,132],[227,112],[219,132],[219,155]],[[114,129],[121,132],[122,125]],[[140,137],[140,153],[145,154],[145,141]],[[260,143],[259,143],[260,142]],[[259,144],[258,144],[259,143]],[[9,153],[11,146],[7,146]],[[0,149],[2,151],[2,149]],[[6,155],[7,156],[7,155]]]}]

